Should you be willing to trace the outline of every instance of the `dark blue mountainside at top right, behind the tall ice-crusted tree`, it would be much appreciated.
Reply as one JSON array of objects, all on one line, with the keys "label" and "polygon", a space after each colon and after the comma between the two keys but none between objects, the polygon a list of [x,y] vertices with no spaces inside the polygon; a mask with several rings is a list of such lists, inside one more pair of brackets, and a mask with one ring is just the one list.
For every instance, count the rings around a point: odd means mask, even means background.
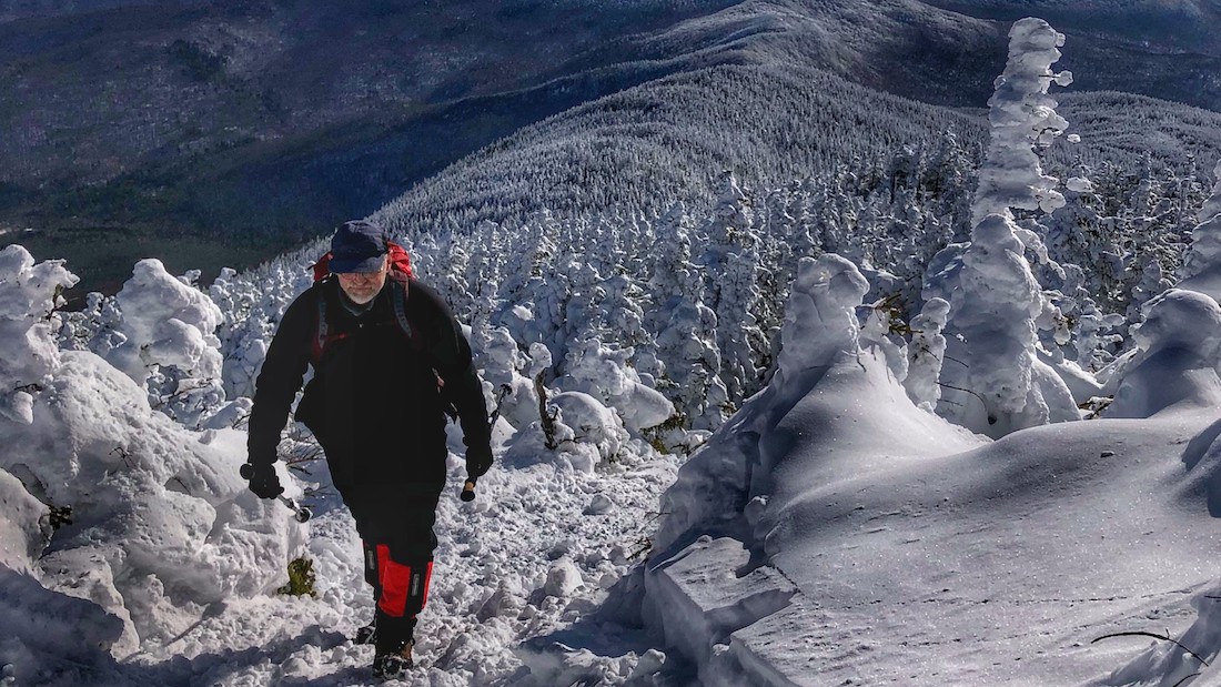
[{"label": "dark blue mountainside at top right, behind the tall ice-crusted tree", "polygon": [[[1005,66],[1012,22],[1042,16],[1040,10],[1055,5],[1050,0],[1005,2],[1007,10],[999,16],[989,9],[1000,4],[989,0],[954,0],[954,11],[935,6],[940,4],[752,0],[725,12],[751,12],[784,27],[747,46],[759,61],[788,56],[916,100],[982,106]],[[1079,89],[1138,93],[1221,110],[1221,52],[1176,49],[1182,43],[1179,29],[1186,27],[1172,11],[1155,11],[1160,6],[1116,1],[1098,10],[1106,26],[1140,27],[1132,31],[1100,31],[1094,15],[1081,10],[1067,12],[1065,24],[1051,21],[1067,37],[1057,68],[1078,74]],[[1198,18],[1193,33],[1221,35],[1216,15],[1199,13]]]}]

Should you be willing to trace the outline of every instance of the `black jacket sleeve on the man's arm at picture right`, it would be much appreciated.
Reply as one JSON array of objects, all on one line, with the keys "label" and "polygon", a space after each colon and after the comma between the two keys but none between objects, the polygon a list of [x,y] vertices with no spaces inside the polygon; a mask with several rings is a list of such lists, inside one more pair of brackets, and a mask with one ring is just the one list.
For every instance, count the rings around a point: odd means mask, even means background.
[{"label": "black jacket sleeve on the man's arm at picture right", "polygon": [[487,423],[487,405],[484,401],[484,383],[471,360],[470,342],[449,306],[431,288],[411,282],[410,298],[431,301],[427,308],[425,345],[444,381],[444,399],[458,410],[463,443],[468,447],[487,448],[492,432]]}]

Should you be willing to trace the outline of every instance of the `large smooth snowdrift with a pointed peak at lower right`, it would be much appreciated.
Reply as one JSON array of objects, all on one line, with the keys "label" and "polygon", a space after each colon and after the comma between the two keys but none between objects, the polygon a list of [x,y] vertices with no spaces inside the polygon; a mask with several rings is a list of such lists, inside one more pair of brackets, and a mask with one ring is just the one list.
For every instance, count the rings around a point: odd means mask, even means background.
[{"label": "large smooth snowdrift with a pointed peak at lower right", "polygon": [[[795,405],[759,398],[684,466],[646,604],[667,637],[725,646],[697,659],[707,685],[1153,683],[1172,671],[1105,680],[1137,647],[1090,642],[1162,625],[1177,636],[1215,593],[1216,459],[1192,459],[1219,433],[1210,410],[988,442],[915,408],[883,360],[845,351]],[[706,480],[752,455],[769,475],[701,500]],[[686,543],[701,532],[742,539]],[[709,595],[741,598],[734,586],[761,570],[796,587],[784,604],[783,586],[773,594],[783,610]],[[733,617],[709,631],[718,613]],[[1205,658],[1221,650],[1215,633],[1195,630]]]}]

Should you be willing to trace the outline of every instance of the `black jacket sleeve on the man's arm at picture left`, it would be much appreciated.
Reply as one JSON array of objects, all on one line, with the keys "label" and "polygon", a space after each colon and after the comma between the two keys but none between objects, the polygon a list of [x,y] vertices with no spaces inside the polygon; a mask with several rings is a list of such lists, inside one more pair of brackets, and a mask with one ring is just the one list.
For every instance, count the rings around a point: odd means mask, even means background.
[{"label": "black jacket sleeve on the man's arm at picture left", "polygon": [[250,409],[247,434],[247,460],[254,465],[276,461],[280,433],[288,421],[288,411],[309,365],[314,318],[317,316],[316,298],[316,289],[310,289],[288,306],[267,348],[263,370],[255,381],[254,408]]}]

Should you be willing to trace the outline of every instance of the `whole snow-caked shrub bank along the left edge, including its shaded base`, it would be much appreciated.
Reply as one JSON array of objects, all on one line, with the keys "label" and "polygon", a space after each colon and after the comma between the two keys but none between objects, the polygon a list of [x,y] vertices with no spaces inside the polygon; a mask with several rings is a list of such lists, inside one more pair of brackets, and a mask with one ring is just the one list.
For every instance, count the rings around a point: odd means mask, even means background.
[{"label": "whole snow-caked shrub bank along the left edge, including its shaded base", "polygon": [[18,683],[79,680],[272,589],[304,536],[238,477],[243,433],[187,431],[93,353],[57,350],[49,315],[74,281],[0,251],[5,383],[24,389],[0,419],[0,665]]}]

